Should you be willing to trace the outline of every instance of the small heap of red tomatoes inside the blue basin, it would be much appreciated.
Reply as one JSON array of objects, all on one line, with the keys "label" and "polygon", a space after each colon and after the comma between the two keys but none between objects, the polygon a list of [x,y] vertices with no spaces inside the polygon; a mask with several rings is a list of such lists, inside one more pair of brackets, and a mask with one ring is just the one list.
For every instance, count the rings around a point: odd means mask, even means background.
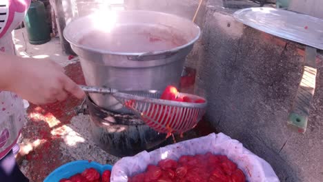
[{"label": "small heap of red tomatoes inside the blue basin", "polygon": [[110,182],[110,176],[110,170],[105,170],[100,176],[100,173],[95,168],[88,168],[81,174],[75,174],[69,179],[61,179],[59,182]]}]

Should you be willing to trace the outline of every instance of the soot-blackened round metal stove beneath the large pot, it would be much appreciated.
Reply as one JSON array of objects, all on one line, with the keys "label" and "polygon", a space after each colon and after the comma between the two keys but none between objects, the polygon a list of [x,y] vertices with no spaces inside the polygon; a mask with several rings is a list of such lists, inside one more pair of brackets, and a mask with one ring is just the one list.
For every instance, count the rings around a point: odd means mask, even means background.
[{"label": "soot-blackened round metal stove beneath the large pot", "polygon": [[90,97],[77,108],[77,114],[90,116],[92,139],[114,156],[133,156],[173,143],[166,134],[155,132],[134,114],[120,114],[96,105]]}]

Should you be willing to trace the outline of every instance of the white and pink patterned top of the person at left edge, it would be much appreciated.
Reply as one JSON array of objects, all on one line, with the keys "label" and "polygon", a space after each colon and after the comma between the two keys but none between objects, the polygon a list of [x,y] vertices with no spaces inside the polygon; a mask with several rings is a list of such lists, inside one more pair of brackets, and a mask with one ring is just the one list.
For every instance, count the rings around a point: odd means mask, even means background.
[{"label": "white and pink patterned top of the person at left edge", "polygon": [[[0,54],[14,54],[11,32],[23,21],[30,0],[8,0],[1,3],[3,1],[0,1],[0,5],[6,6],[1,6],[0,12],[6,14],[0,16],[0,20],[5,21],[0,26]],[[0,90],[0,159],[17,143],[25,120],[23,100],[17,94]]]}]

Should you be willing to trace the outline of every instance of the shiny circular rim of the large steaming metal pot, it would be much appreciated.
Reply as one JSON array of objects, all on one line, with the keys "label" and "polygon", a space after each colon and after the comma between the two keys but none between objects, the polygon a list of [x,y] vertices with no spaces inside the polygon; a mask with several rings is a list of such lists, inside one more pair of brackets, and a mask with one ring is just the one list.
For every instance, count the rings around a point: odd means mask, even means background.
[{"label": "shiny circular rim of the large steaming metal pot", "polygon": [[[115,10],[115,11],[112,11],[112,12],[117,12],[117,11]],[[176,14],[170,14],[170,13],[165,13],[165,12],[157,12],[157,11],[151,11],[151,10],[119,10],[119,12],[150,12],[150,13],[155,13],[155,14],[164,14],[164,15],[168,15],[168,16],[171,15],[173,17],[177,17],[179,19],[182,19],[183,21],[189,21],[188,19],[185,19],[183,17],[179,17]],[[72,23],[74,23],[75,21],[77,21],[79,19],[85,19],[87,17],[91,17],[94,14],[95,13],[92,13],[92,14],[89,14],[89,15],[87,15],[85,17],[79,17],[77,19],[73,19],[72,21],[70,21],[70,23],[68,23],[66,28],[64,28],[64,30],[63,30],[63,37],[66,39],[66,41],[68,41],[70,44],[74,45],[77,48],[88,50],[90,52],[96,52],[96,53],[99,53],[99,54],[112,54],[112,55],[119,55],[119,56],[141,56],[141,55],[144,55],[144,54],[154,55],[154,54],[164,54],[164,53],[168,53],[168,52],[177,52],[177,51],[179,51],[179,50],[181,50],[183,48],[186,48],[186,47],[192,45],[201,36],[201,28],[199,28],[199,26],[197,26],[196,23],[190,21],[190,23],[193,23],[193,26],[195,26],[195,28],[197,28],[197,31],[198,31],[195,38],[192,39],[191,41],[189,41],[188,43],[184,44],[184,45],[180,45],[180,46],[177,46],[177,47],[169,49],[169,50],[161,50],[161,51],[153,51],[153,52],[112,52],[112,51],[109,51],[109,50],[90,48],[90,46],[81,45],[80,43],[75,43],[74,41],[70,40],[68,38],[68,36],[66,35],[68,27],[70,27],[72,25]]]}]

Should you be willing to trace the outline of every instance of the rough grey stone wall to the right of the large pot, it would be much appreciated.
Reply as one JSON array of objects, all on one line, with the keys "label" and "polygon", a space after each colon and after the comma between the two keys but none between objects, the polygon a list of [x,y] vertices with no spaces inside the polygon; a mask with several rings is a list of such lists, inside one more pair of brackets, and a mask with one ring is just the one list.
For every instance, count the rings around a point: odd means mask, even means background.
[{"label": "rough grey stone wall to the right of the large pot", "polygon": [[302,76],[304,48],[243,26],[232,12],[212,6],[206,11],[195,85],[209,101],[206,119],[271,163],[281,181],[321,181],[322,68],[309,129],[299,134],[286,120]]}]

